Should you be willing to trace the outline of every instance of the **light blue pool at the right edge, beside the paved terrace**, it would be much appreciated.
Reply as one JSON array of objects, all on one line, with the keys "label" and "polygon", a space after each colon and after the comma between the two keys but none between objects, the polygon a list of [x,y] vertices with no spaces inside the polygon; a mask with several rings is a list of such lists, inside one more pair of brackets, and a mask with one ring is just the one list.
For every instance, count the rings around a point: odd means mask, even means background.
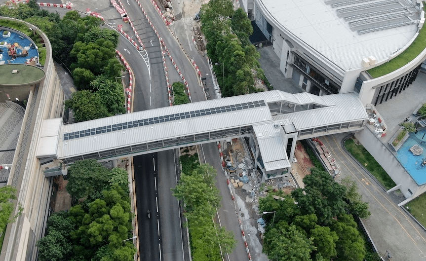
[{"label": "light blue pool at the right edge, beside the paved terrace", "polygon": [[[410,133],[408,139],[401,148],[398,149],[396,158],[401,162],[407,172],[416,181],[417,185],[426,183],[426,165],[422,166],[423,160],[426,160],[426,128],[419,130],[417,134]],[[423,138],[423,140],[422,140]],[[423,148],[423,153],[415,156],[409,149],[414,145]],[[417,164],[416,164],[417,162]]]}]

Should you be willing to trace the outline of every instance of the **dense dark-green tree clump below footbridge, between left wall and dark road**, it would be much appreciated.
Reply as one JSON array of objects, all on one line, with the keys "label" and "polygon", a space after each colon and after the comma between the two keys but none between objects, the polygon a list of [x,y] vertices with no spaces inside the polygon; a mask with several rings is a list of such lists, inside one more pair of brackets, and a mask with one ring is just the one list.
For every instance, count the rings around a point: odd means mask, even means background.
[{"label": "dense dark-green tree clump below footbridge, between left wall and dark road", "polygon": [[67,191],[77,205],[52,214],[47,234],[37,242],[40,261],[133,261],[128,176],[96,160],[69,168]]}]

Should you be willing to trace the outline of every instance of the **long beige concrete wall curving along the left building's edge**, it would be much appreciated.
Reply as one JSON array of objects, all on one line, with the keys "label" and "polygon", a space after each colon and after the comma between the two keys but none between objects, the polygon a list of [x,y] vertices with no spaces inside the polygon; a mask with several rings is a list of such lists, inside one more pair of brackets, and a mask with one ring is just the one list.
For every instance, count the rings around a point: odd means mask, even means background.
[{"label": "long beige concrete wall curving along the left building's edge", "polygon": [[[28,25],[38,30],[34,25]],[[42,120],[60,117],[64,95],[53,64],[50,41],[44,34],[42,38],[47,49],[43,67],[46,77],[36,88],[34,99],[33,93],[30,94],[8,182],[18,189],[17,201],[24,211],[15,223],[7,226],[1,261],[36,260],[35,244],[44,234],[43,224],[47,218],[51,182],[50,178],[44,177],[35,152],[39,146]],[[21,151],[24,156],[20,157]],[[16,185],[12,184],[15,182]]]}]

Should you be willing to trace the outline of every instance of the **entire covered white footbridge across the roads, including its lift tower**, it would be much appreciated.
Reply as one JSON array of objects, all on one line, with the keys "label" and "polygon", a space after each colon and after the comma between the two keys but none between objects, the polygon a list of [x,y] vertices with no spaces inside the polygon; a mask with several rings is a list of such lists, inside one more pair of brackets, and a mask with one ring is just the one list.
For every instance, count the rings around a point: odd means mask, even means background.
[{"label": "entire covered white footbridge across the roads, including its lift tower", "polygon": [[297,140],[361,130],[367,118],[352,93],[316,96],[273,90],[74,124],[46,119],[37,156],[41,164],[65,166],[82,159],[105,161],[251,137],[249,147],[262,158],[262,171],[276,172],[290,167]]}]

